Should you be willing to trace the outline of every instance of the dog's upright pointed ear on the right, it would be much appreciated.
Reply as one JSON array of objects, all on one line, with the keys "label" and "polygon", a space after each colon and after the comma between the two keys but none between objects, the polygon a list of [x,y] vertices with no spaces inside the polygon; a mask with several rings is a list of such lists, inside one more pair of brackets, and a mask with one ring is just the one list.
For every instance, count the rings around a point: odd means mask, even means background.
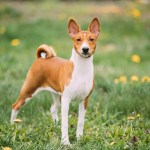
[{"label": "dog's upright pointed ear on the right", "polygon": [[96,36],[99,35],[100,32],[100,23],[97,18],[94,18],[89,26],[89,31],[95,34]]}]

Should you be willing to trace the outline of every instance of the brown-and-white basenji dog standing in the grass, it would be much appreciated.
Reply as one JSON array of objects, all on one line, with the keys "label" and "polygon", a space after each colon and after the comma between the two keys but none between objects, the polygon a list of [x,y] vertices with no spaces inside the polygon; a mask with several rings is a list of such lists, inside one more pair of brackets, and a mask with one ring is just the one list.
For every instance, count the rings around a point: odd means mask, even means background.
[{"label": "brown-and-white basenji dog standing in the grass", "polygon": [[57,57],[53,48],[41,45],[37,58],[27,73],[17,101],[12,106],[11,123],[20,108],[41,90],[48,90],[53,97],[50,108],[52,118],[58,121],[57,111],[61,104],[61,142],[70,144],[68,136],[68,111],[71,100],[79,100],[79,113],[76,137],[83,135],[84,117],[88,99],[94,88],[93,55],[100,32],[100,23],[94,18],[87,31],[70,19],[69,35],[73,40],[70,60]]}]

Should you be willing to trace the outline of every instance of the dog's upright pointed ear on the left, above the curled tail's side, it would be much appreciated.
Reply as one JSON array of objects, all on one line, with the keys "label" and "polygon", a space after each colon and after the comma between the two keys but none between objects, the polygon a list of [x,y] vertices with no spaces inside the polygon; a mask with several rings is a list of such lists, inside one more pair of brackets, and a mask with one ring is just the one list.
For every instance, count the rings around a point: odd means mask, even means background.
[{"label": "dog's upright pointed ear on the left, above the curled tail's side", "polygon": [[71,37],[74,37],[79,31],[80,31],[80,27],[77,25],[77,23],[73,20],[70,19],[69,23],[68,23],[68,31],[69,31],[69,35]]}]

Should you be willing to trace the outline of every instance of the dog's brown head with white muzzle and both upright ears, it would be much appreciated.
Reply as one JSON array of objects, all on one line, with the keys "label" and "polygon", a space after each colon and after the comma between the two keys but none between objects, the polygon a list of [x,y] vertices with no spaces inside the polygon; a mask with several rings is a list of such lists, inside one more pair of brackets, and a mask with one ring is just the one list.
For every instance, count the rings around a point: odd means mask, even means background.
[{"label": "dog's brown head with white muzzle and both upright ears", "polygon": [[71,19],[68,23],[69,35],[73,39],[74,49],[84,58],[89,58],[95,52],[96,40],[100,32],[100,23],[94,18],[87,31],[82,31],[78,24]]}]

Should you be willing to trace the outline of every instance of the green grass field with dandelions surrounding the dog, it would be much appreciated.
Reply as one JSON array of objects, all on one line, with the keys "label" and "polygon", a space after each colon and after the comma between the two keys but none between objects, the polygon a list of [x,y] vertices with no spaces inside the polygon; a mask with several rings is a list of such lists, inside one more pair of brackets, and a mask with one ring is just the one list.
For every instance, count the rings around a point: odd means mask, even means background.
[{"label": "green grass field with dandelions surrounding the dog", "polygon": [[[36,6],[35,6],[36,5]],[[38,9],[37,9],[38,8]],[[68,9],[66,9],[68,8]],[[74,9],[70,9],[74,8]],[[2,2],[0,6],[0,148],[37,149],[150,149],[150,19],[149,4]],[[138,10],[140,14],[133,13]],[[95,89],[85,118],[84,136],[76,141],[77,102],[69,112],[71,147],[60,145],[61,122],[49,113],[48,92],[39,93],[10,125],[11,105],[35,60],[35,49],[52,45],[69,59],[72,42],[67,33],[73,17],[86,29],[93,17],[101,21],[94,56]],[[11,41],[20,44],[12,46]],[[135,63],[134,54],[140,57]],[[136,75],[138,81],[132,81]],[[148,79],[147,77],[148,76]],[[117,79],[119,83],[114,83]],[[145,80],[143,82],[142,80]],[[60,118],[60,112],[59,112]]]}]

